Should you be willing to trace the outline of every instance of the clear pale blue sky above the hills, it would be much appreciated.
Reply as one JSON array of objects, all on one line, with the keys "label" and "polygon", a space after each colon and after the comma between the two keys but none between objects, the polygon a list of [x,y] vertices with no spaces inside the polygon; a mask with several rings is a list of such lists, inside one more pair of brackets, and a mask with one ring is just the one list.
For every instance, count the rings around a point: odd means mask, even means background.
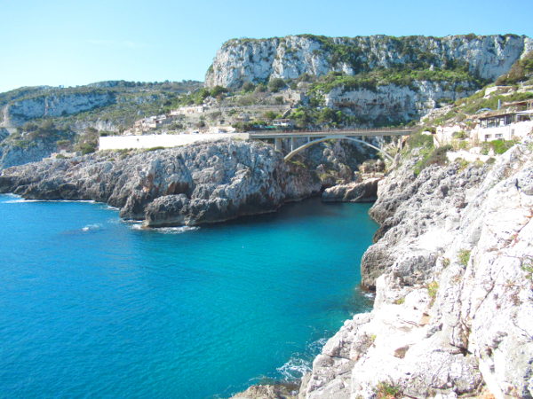
[{"label": "clear pale blue sky above the hills", "polygon": [[105,80],[203,81],[234,37],[533,37],[531,0],[0,0],[0,92]]}]

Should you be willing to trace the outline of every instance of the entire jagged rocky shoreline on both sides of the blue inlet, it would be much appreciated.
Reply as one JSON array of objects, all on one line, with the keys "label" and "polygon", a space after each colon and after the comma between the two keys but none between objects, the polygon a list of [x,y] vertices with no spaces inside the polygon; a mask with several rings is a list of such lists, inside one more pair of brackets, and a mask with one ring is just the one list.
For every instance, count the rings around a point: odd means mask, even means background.
[{"label": "entire jagged rocky shoreline on both sides of the blue inlet", "polygon": [[[299,393],[253,387],[239,397],[533,395],[533,139],[494,164],[430,166],[416,176],[417,160],[324,192],[370,200],[378,187],[370,215],[380,227],[362,258],[374,309],[326,343]],[[235,141],[45,160],[0,175],[0,192],[106,202],[148,226],[274,211],[321,185],[271,146]]]}]

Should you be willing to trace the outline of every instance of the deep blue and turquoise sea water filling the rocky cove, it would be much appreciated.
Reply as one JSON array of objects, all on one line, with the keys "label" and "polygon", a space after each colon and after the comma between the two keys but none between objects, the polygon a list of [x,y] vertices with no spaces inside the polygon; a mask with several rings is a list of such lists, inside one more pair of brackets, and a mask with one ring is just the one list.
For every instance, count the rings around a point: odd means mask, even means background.
[{"label": "deep blue and turquoise sea water filling the rocky cove", "polygon": [[298,377],[369,309],[368,205],[308,200],[192,231],[0,196],[0,397],[227,396]]}]

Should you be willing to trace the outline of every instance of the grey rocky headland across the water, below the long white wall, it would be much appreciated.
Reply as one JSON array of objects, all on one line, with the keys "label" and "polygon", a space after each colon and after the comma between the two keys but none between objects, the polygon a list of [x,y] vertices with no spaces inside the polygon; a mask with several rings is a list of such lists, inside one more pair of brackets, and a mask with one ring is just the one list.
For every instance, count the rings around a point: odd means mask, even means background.
[{"label": "grey rocky headland across the water, below the long white wall", "polygon": [[96,200],[147,225],[215,223],[274,211],[320,191],[307,168],[270,145],[221,140],[169,150],[96,153],[4,169],[0,192],[26,199]]}]

